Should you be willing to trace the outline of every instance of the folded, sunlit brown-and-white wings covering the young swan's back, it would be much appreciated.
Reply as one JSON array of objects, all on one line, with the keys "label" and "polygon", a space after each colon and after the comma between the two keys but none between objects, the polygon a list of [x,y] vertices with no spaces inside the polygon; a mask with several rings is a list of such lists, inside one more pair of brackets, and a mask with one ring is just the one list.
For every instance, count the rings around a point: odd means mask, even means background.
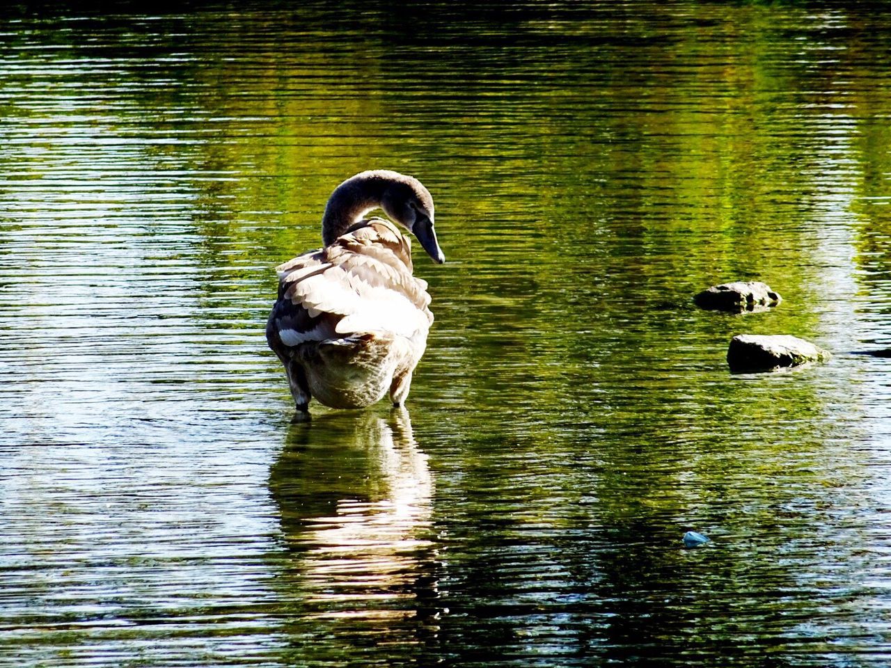
[{"label": "folded, sunlit brown-and-white wings covering the young swan's back", "polygon": [[427,284],[412,276],[408,240],[386,221],[354,225],[277,271],[272,317],[287,346],[362,333],[412,337],[433,321]]}]

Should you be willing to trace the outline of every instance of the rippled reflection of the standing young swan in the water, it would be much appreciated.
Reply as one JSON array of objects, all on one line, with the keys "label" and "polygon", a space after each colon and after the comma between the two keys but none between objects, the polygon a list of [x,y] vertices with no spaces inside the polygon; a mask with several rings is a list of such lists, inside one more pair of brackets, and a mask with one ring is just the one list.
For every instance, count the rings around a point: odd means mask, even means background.
[{"label": "rippled reflection of the standing young swan in the water", "polygon": [[405,409],[292,424],[269,486],[298,607],[291,631],[312,639],[316,658],[330,643],[339,655],[356,648],[356,634],[386,635],[396,649],[436,633],[433,477]]}]

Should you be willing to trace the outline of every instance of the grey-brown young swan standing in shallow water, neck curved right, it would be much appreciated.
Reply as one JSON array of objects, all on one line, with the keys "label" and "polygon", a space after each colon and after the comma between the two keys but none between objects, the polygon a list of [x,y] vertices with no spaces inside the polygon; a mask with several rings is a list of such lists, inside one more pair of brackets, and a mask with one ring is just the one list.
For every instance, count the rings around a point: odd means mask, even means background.
[{"label": "grey-brown young swan standing in shallow water, neck curved right", "polygon": [[[390,220],[364,218],[382,208]],[[412,275],[411,244],[395,224],[446,261],[433,230],[433,198],[420,181],[378,169],[331,193],[324,248],[276,267],[278,300],[266,340],[284,364],[297,410],[314,397],[362,408],[389,393],[401,406],[433,322],[427,282]]]}]

